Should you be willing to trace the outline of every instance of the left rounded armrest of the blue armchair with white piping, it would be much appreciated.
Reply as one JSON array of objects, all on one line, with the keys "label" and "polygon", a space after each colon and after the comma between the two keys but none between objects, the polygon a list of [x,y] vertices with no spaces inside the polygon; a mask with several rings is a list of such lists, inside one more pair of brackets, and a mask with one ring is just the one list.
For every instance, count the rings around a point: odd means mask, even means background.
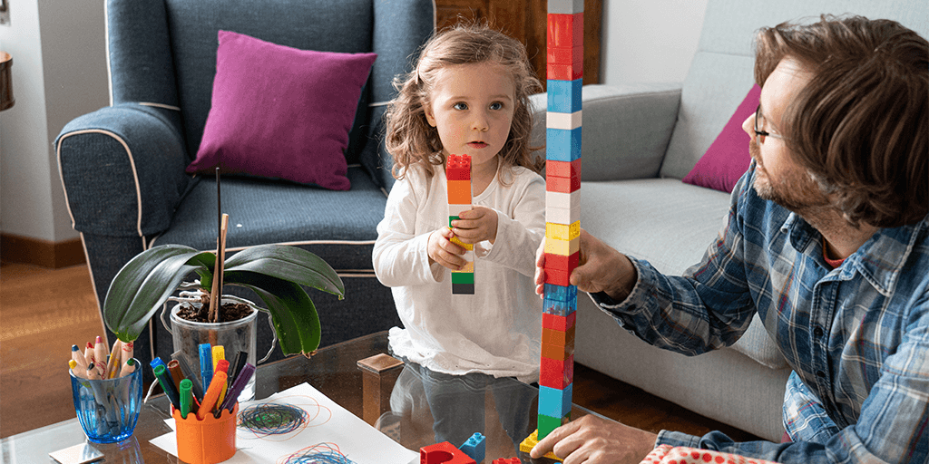
[{"label": "left rounded armrest of the blue armchair with white piping", "polygon": [[74,229],[110,237],[164,231],[190,185],[170,110],[123,104],[69,122],[55,141]]}]

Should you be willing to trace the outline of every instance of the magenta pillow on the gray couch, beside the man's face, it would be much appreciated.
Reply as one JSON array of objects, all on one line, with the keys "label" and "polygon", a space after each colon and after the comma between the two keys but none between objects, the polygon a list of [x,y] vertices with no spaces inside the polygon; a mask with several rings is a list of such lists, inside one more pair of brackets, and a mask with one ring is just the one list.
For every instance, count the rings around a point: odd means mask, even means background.
[{"label": "magenta pillow on the gray couch, beside the man's face", "polygon": [[683,179],[687,184],[732,192],[739,177],[749,169],[752,156],[749,154],[751,138],[742,130],[742,122],[758,109],[761,87],[752,86],[739,108],[726,122],[723,132],[716,135],[713,144],[697,161],[690,173]]}]

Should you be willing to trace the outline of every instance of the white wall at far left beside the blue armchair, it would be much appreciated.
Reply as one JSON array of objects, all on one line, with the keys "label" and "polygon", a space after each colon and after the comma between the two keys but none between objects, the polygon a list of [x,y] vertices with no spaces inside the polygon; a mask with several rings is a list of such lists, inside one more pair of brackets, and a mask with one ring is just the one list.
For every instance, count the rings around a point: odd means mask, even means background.
[{"label": "white wall at far left beside the blue armchair", "polygon": [[71,225],[53,148],[64,125],[109,105],[104,0],[10,0],[0,48],[16,105],[0,112],[0,231],[59,242]]}]

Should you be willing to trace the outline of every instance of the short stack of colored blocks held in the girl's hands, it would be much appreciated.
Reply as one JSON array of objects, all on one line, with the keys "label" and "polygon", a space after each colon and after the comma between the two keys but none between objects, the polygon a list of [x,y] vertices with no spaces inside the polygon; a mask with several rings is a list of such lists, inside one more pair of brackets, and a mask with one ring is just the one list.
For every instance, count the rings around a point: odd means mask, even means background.
[{"label": "short stack of colored blocks held in the girl's hands", "polygon": [[[449,192],[449,228],[451,221],[458,219],[463,211],[471,209],[471,155],[449,155],[445,161],[445,177]],[[461,245],[465,250],[464,268],[451,271],[452,294],[474,294],[474,245],[467,244],[457,237],[452,243]]]}]

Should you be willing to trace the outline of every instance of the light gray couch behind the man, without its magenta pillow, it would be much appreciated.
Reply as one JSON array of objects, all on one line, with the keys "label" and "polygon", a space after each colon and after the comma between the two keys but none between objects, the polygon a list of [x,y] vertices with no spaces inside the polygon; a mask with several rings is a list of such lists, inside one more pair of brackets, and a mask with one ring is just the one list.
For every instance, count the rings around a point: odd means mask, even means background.
[{"label": "light gray couch behind the man, without its magenta pillow", "polygon": [[[752,39],[763,26],[822,13],[895,19],[929,36],[922,0],[710,0],[683,84],[583,87],[581,225],[618,251],[679,275],[716,238],[728,195],[680,181],[753,83]],[[544,139],[544,95],[533,142]],[[747,148],[746,148],[747,149]],[[651,347],[578,298],[575,361],[768,440],[783,433],[791,372],[757,320],[734,346],[688,358]]]}]

